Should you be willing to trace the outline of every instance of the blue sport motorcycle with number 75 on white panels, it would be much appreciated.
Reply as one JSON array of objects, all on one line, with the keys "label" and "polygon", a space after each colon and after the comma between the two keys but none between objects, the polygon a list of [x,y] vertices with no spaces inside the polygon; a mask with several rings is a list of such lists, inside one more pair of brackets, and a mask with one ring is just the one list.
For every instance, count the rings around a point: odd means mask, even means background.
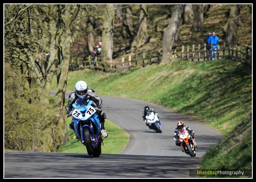
[{"label": "blue sport motorcycle with number 75 on white panels", "polygon": [[87,98],[77,98],[72,106],[74,110],[71,115],[76,137],[85,145],[88,155],[99,157],[103,139],[100,132],[101,124],[96,111],[101,110],[95,108],[93,101]]}]

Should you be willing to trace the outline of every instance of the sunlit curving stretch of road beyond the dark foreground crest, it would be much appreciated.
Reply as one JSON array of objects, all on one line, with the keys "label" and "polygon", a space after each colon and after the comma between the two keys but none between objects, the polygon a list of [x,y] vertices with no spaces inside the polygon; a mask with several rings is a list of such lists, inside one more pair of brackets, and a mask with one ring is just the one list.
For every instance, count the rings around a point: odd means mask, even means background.
[{"label": "sunlit curving stretch of road beyond the dark foreground crest", "polygon": [[[107,118],[130,135],[130,141],[121,154],[189,157],[173,140],[178,120],[182,120],[195,131],[194,137],[198,145],[196,157],[202,157],[222,136],[215,129],[161,106],[134,99],[103,96],[100,98],[103,100],[102,110],[107,114]],[[144,123],[141,114],[146,105],[158,113],[162,133],[156,133]]]}]

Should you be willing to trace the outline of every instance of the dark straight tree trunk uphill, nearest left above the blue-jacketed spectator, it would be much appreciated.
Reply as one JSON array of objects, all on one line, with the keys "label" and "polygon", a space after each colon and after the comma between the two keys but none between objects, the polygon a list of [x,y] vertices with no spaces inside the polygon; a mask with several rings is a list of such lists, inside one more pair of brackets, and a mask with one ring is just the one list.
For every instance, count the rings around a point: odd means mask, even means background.
[{"label": "dark straight tree trunk uphill, nearest left above the blue-jacketed spectator", "polygon": [[204,5],[195,4],[195,21],[194,21],[194,32],[199,32],[203,29],[203,21],[204,21]]}]

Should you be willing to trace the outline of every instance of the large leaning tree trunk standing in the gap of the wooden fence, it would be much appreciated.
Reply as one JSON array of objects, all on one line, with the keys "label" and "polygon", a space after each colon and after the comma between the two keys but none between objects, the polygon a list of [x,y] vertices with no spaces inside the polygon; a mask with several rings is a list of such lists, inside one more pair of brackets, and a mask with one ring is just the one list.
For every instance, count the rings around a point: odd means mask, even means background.
[{"label": "large leaning tree trunk standing in the gap of the wooden fence", "polygon": [[175,35],[178,32],[178,27],[181,21],[181,8],[182,5],[173,5],[171,21],[169,25],[166,28],[164,28],[163,55],[161,63],[172,60],[172,44],[175,39]]}]

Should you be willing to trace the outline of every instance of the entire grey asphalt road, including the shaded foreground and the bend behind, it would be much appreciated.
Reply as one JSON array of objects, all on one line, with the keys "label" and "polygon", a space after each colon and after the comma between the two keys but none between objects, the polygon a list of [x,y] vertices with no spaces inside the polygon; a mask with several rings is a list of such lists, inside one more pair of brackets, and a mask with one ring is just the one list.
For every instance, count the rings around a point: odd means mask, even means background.
[{"label": "entire grey asphalt road, including the shaded foreground and the bend behind", "polygon": [[[8,152],[4,154],[4,178],[191,178],[188,169],[196,169],[199,157],[222,136],[161,106],[133,99],[100,98],[107,118],[130,135],[121,154],[92,157],[87,153]],[[143,122],[141,113],[145,105],[158,113],[162,133],[150,130]],[[196,157],[189,157],[175,145],[173,134],[178,120],[195,131]]]}]

